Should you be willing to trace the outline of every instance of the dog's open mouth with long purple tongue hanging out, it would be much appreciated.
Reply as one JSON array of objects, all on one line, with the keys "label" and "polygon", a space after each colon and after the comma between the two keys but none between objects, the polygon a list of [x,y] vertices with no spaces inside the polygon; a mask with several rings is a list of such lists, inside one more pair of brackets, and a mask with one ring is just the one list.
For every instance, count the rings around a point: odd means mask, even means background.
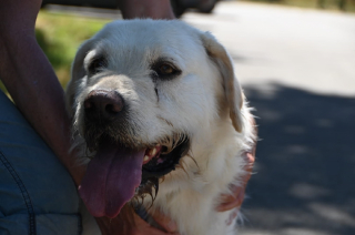
[{"label": "dog's open mouth with long purple tongue hanging out", "polygon": [[180,136],[169,145],[149,147],[100,141],[79,186],[89,212],[95,217],[113,218],[134,195],[151,193],[152,186],[156,193],[159,178],[175,170],[180,159],[189,152],[189,139]]}]

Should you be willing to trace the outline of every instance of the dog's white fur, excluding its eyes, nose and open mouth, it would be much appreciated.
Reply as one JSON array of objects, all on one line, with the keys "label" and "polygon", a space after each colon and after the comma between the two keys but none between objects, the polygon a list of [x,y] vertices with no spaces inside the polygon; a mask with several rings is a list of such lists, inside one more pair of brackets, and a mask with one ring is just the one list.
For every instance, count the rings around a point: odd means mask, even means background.
[{"label": "dog's white fur, excluding its eyes, nose and open mouth", "polygon": [[[108,70],[88,75],[92,57],[104,53]],[[168,58],[182,74],[154,82],[150,63]],[[180,21],[133,20],[108,24],[79,50],[68,86],[68,110],[74,119],[77,145],[84,145],[82,104],[93,89],[120,92],[130,105],[129,123],[140,129],[138,144],[186,133],[189,156],[165,176],[149,213],[160,210],[182,235],[235,234],[232,212],[216,212],[221,194],[231,193],[245,173],[243,153],[253,140],[252,115],[224,48],[206,32]],[[169,124],[166,121],[168,120]],[[84,149],[84,146],[82,146]],[[150,206],[149,197],[144,205]]]}]

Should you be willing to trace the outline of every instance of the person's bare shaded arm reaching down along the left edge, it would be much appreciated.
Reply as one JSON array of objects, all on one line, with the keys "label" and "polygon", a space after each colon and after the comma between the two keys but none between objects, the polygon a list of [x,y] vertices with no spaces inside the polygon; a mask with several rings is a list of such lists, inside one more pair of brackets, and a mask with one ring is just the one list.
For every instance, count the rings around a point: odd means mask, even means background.
[{"label": "person's bare shaded arm reaching down along the left edge", "polygon": [[77,185],[85,167],[75,164],[64,93],[38,45],[34,23],[41,0],[0,2],[0,79],[33,129],[52,149]]}]

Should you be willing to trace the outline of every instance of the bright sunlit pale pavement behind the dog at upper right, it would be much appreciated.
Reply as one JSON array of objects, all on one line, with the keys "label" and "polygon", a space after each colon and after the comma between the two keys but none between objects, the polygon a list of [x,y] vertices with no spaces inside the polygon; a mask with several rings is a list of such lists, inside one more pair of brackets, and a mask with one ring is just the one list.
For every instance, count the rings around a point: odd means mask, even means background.
[{"label": "bright sunlit pale pavement behind the dog at upper right", "polygon": [[244,84],[355,95],[355,14],[220,2],[212,16],[183,20],[223,42]]}]

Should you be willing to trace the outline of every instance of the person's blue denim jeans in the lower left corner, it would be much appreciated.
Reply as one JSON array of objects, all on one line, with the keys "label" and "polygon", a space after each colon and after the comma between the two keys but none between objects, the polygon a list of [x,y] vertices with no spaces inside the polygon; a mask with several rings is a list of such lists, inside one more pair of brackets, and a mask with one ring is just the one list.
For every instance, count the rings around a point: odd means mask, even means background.
[{"label": "person's blue denim jeans in the lower left corner", "polygon": [[0,91],[0,234],[81,234],[79,206],[68,171]]}]

